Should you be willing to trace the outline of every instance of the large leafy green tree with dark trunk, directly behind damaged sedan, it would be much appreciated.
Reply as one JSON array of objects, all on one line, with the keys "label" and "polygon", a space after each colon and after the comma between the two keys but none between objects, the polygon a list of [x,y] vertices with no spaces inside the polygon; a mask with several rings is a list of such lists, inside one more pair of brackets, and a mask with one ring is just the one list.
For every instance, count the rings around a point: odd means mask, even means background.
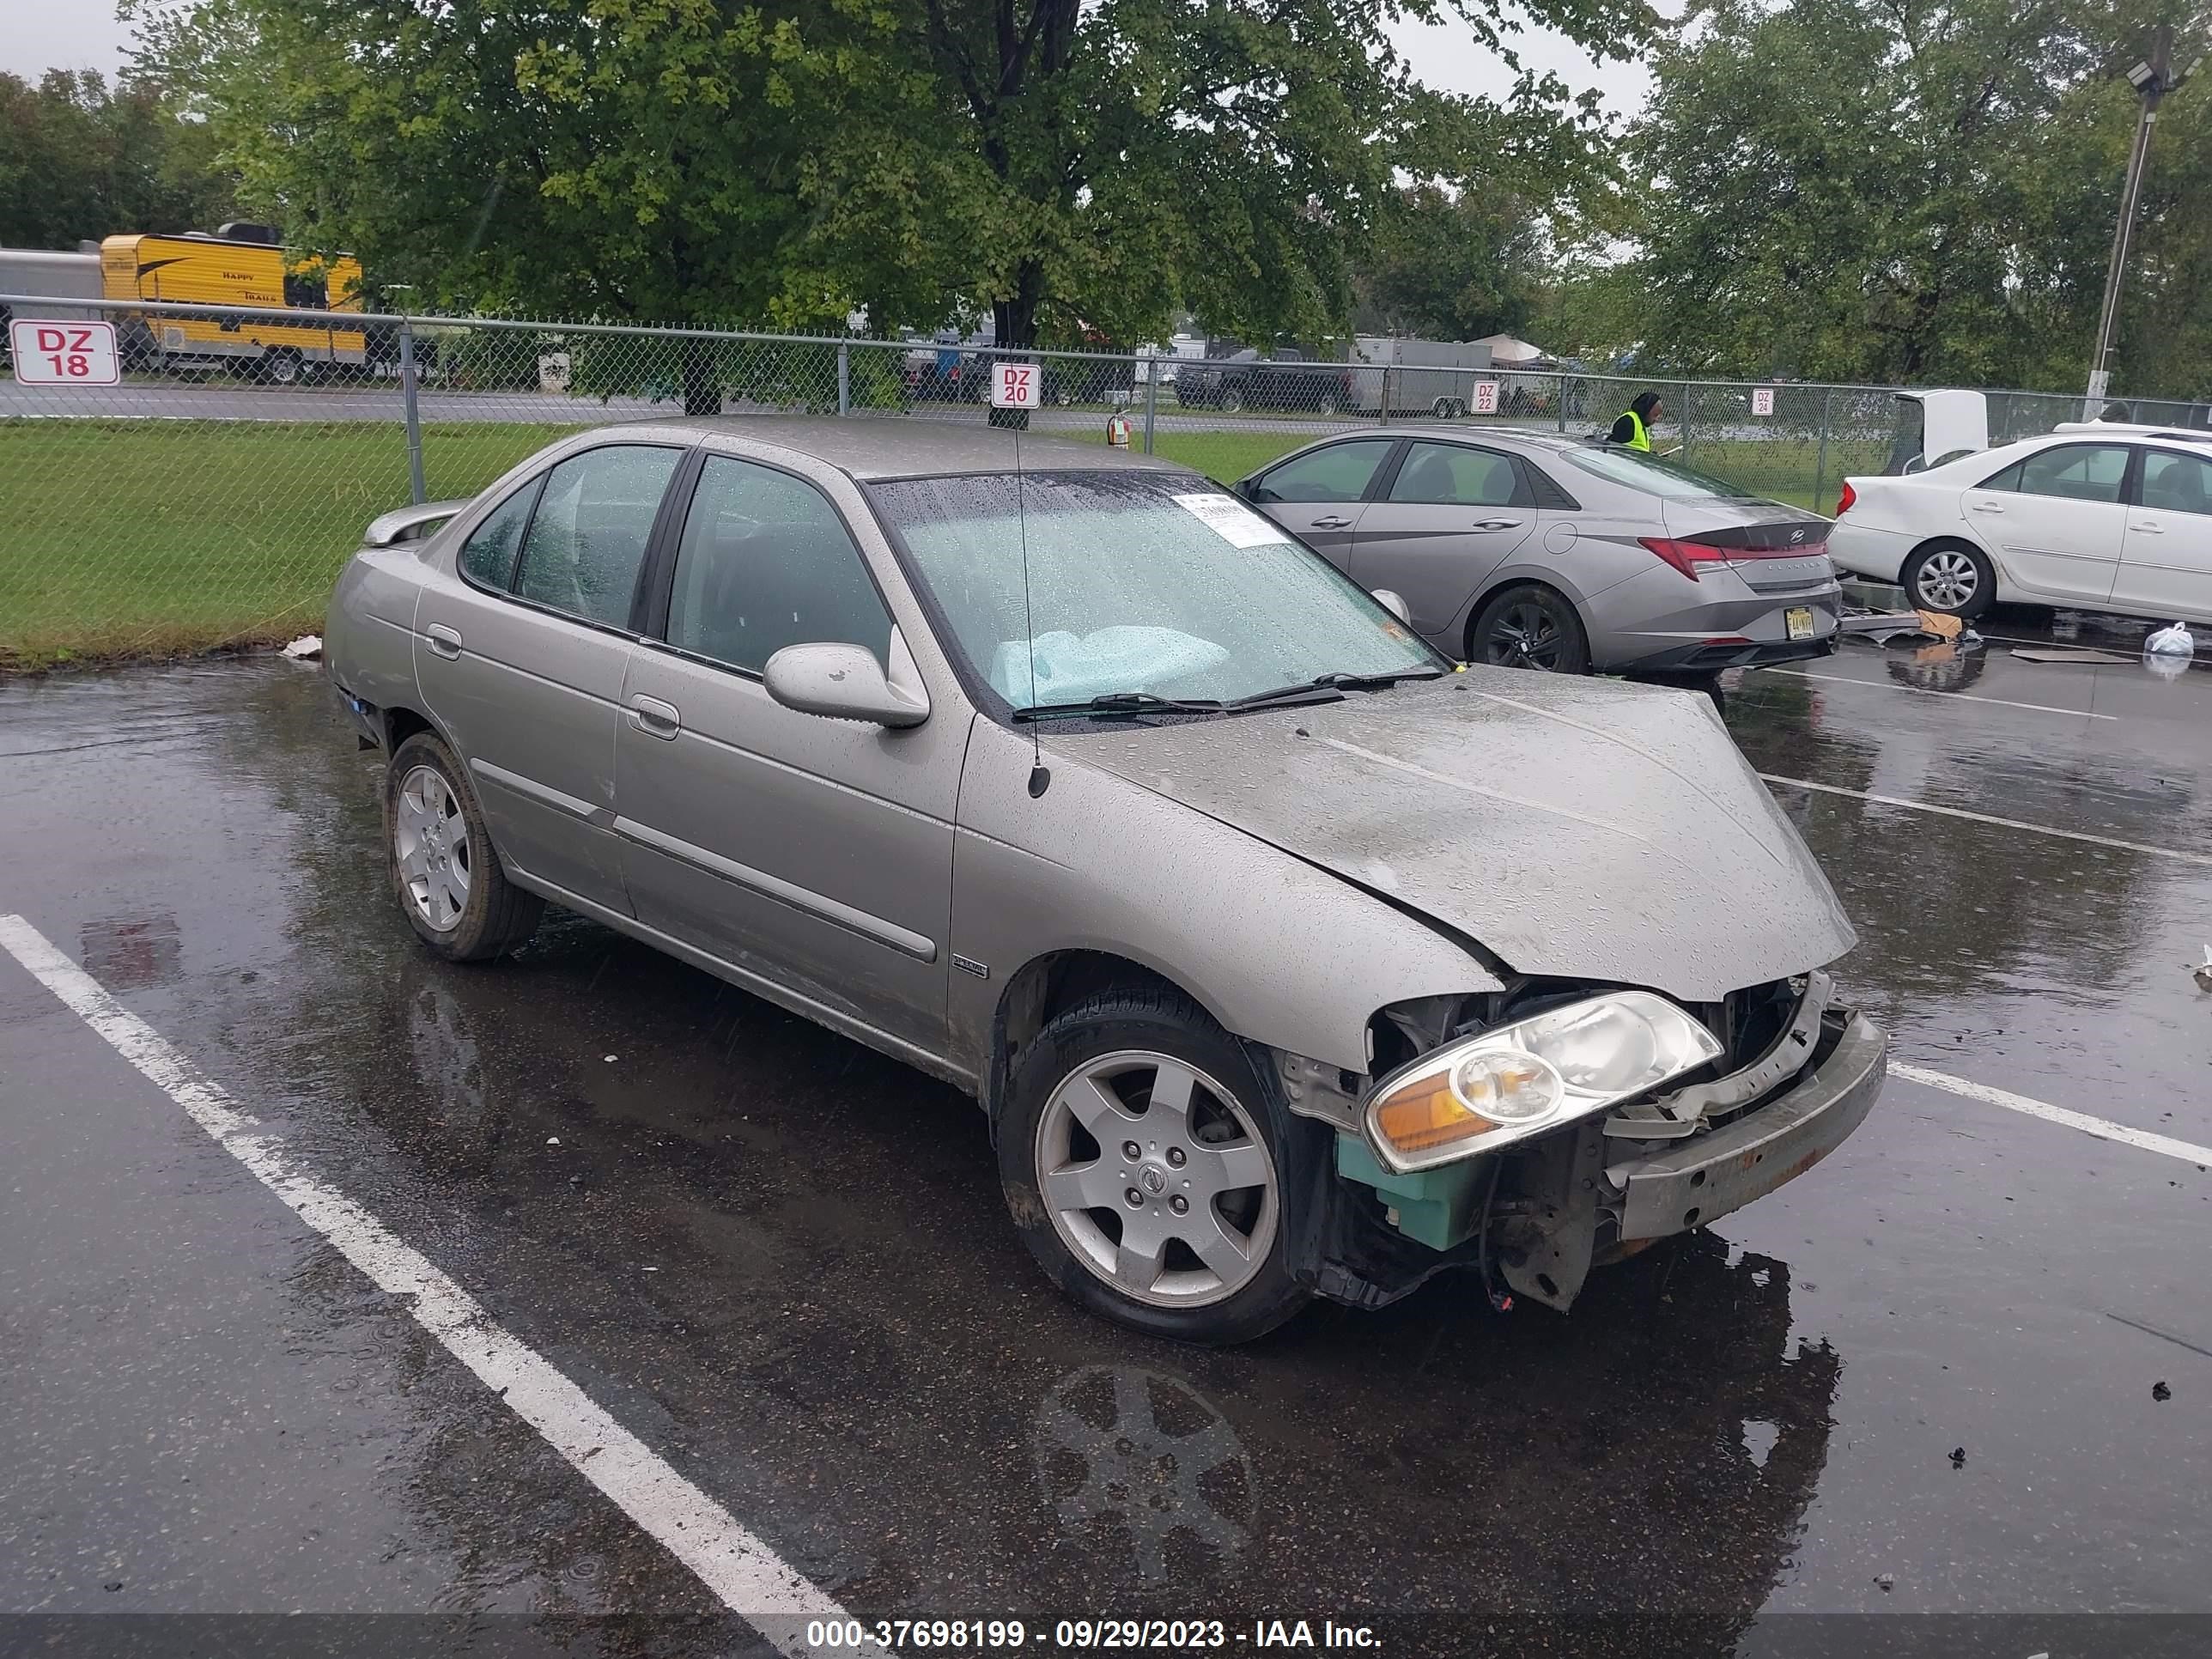
[{"label": "large leafy green tree with dark trunk, directly behind damaged sedan", "polygon": [[[1398,18],[1606,55],[1644,0],[197,0],[148,62],[299,246],[416,299],[1135,341],[1340,327],[1400,175],[1544,201],[1588,106],[1422,88]],[[690,403],[708,369],[686,376]]]}]

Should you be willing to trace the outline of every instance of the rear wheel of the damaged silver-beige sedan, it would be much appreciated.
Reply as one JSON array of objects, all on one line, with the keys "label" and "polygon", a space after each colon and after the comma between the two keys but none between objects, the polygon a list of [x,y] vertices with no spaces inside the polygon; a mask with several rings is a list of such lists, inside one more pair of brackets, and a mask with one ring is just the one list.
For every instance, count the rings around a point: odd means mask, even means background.
[{"label": "rear wheel of the damaged silver-beige sedan", "polygon": [[469,774],[416,732],[385,770],[385,856],[409,927],[447,962],[482,962],[538,931],[546,902],[507,880]]}]

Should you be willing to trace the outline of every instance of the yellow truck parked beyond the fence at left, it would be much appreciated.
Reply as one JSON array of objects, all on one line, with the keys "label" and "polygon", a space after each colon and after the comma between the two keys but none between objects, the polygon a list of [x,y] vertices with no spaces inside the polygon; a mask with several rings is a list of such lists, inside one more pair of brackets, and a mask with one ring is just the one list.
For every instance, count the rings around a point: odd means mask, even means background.
[{"label": "yellow truck parked beyond the fence at left", "polygon": [[[108,237],[100,243],[100,285],[106,299],[184,301],[195,305],[252,305],[270,312],[358,312],[361,263],[292,259],[268,226],[226,223],[206,234]],[[365,369],[383,361],[385,330],[369,323],[283,321],[243,316],[117,316],[124,352],[148,367],[223,363],[276,385],[336,369]]]}]

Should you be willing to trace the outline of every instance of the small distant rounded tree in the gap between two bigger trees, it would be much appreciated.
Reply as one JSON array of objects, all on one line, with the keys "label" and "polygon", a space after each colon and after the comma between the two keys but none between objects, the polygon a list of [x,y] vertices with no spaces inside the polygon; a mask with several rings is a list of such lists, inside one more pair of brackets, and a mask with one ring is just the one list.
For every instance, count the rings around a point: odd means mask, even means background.
[{"label": "small distant rounded tree in the gap between two bigger trees", "polygon": [[1475,341],[1520,334],[1537,307],[1540,226],[1509,195],[1409,186],[1376,212],[1356,261],[1367,330]]}]

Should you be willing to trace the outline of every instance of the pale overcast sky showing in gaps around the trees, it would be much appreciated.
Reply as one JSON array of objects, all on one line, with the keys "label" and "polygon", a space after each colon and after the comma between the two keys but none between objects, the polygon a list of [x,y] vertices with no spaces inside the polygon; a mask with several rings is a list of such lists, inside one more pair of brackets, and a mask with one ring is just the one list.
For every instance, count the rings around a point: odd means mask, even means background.
[{"label": "pale overcast sky showing in gaps around the trees", "polygon": [[[0,71],[38,80],[46,69],[97,69],[113,75],[124,62],[128,31],[115,18],[115,0],[0,0],[9,27],[0,29]],[[1398,29],[1398,49],[1431,86],[1453,93],[1502,97],[1513,75],[1464,33],[1451,29]],[[1551,69],[1577,93],[1597,86],[1606,106],[1632,115],[1650,77],[1637,64],[1597,66],[1557,35],[1524,35],[1522,58],[1533,69]]]}]

